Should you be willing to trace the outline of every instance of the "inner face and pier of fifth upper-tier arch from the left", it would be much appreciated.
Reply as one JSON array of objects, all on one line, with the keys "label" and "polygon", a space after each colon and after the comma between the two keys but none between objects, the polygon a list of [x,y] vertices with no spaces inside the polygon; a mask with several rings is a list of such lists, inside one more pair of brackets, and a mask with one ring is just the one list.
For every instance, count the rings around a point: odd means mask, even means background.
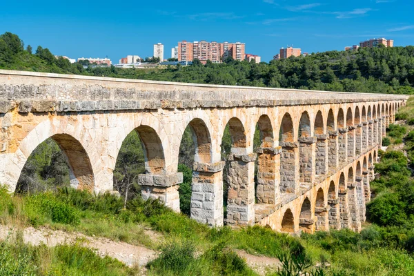
[{"label": "inner face and pier of fifth upper-tier arch from the left", "polygon": [[260,148],[257,149],[256,202],[258,204],[276,204],[279,194],[279,175],[277,164],[279,156],[274,150],[272,121],[268,115],[262,115],[257,121]]}]

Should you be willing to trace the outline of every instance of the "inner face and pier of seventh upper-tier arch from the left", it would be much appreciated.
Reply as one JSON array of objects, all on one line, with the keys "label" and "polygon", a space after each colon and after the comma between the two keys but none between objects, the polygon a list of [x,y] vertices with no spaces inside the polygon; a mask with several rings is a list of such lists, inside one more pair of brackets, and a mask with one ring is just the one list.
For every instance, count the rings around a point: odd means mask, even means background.
[{"label": "inner face and pier of seventh upper-tier arch from the left", "polygon": [[[323,120],[322,120],[323,122]],[[313,183],[315,179],[315,137],[312,136],[311,119],[308,112],[302,112],[299,120],[299,181]]]}]

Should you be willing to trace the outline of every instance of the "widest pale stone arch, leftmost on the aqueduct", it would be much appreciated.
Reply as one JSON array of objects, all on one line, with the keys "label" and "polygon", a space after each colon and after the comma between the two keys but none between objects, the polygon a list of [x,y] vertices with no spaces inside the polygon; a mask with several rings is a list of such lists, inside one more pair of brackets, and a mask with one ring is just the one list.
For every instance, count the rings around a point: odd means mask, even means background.
[{"label": "widest pale stone arch, leftmost on the aqueduct", "polygon": [[[82,124],[66,128],[67,124],[62,124],[59,119],[61,118],[42,121],[28,132],[28,135],[21,140],[19,148],[9,159],[8,164],[3,164],[9,169],[2,184],[7,185],[10,191],[14,192],[21,170],[33,150],[43,141],[51,138],[57,142],[63,154],[68,158],[68,165],[72,173],[71,182],[74,186],[95,190],[97,193],[112,190],[112,171],[106,170],[106,166],[101,163],[95,144],[89,141],[90,136],[84,135],[88,131],[83,129]],[[64,128],[62,128],[63,125]]]}]

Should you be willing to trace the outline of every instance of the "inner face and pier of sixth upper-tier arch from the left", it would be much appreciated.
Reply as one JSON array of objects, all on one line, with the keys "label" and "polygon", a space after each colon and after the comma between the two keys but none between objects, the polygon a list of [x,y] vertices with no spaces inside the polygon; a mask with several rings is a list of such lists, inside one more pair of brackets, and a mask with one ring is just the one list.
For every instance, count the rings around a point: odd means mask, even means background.
[{"label": "inner face and pier of sixth upper-tier arch from the left", "polygon": [[299,164],[297,164],[297,143],[294,141],[292,117],[286,113],[279,130],[280,155],[280,190],[281,193],[296,193],[299,190]]}]

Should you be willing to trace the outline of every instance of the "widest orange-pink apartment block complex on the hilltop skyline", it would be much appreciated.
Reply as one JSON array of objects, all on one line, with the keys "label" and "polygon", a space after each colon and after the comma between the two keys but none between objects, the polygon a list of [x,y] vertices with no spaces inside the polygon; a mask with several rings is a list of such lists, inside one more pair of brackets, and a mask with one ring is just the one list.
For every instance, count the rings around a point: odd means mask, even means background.
[{"label": "widest orange-pink apartment block complex on the hilltop skyline", "polygon": [[179,61],[199,59],[202,63],[206,63],[208,60],[219,63],[228,57],[242,61],[245,58],[245,44],[240,42],[217,43],[215,41],[181,41],[178,43]]}]

